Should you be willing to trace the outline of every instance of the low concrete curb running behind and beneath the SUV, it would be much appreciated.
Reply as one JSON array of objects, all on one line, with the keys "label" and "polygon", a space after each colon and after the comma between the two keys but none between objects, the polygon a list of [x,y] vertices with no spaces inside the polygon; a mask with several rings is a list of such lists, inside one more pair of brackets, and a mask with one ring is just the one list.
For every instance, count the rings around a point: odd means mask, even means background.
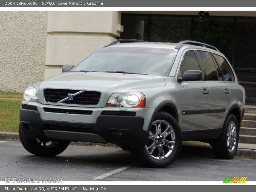
[{"label": "low concrete curb running behind and beneath the SUV", "polygon": [[[20,141],[19,133],[0,132],[0,140]],[[102,144],[102,143],[78,141],[78,142],[71,142],[70,145],[121,149],[113,143]],[[180,153],[190,154],[190,155],[201,155],[201,156],[214,156],[211,146],[182,145]],[[236,158],[256,160],[256,150],[238,148],[236,152]]]}]

